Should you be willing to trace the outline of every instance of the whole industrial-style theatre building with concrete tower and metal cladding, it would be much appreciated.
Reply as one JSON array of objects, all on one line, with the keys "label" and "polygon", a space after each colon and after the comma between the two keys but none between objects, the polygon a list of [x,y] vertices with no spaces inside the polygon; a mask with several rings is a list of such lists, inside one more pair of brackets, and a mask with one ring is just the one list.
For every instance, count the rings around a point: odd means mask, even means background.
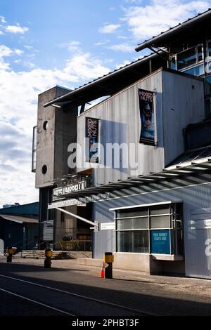
[{"label": "whole industrial-style theatre building with concrete tower and metal cladding", "polygon": [[145,41],[136,51],[151,55],[74,91],[40,96],[36,184],[54,244],[91,236],[81,217],[99,223],[89,263],[111,251],[116,268],[211,278],[210,18]]}]

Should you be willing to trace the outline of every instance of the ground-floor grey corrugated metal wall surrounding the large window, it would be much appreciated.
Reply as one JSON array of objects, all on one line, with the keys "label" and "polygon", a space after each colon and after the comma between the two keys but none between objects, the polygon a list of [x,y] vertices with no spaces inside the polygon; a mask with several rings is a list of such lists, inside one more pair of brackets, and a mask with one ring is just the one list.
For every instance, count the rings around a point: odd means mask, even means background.
[{"label": "ground-floor grey corrugated metal wall surrounding the large window", "polygon": [[[94,203],[95,218],[100,222],[113,220],[110,208],[167,201],[182,201],[184,205],[184,247],[186,275],[211,279],[211,256],[205,254],[211,229],[190,230],[191,213],[196,209],[211,208],[211,183],[177,189],[110,199]],[[115,252],[115,232],[102,230],[94,233],[94,258],[102,258],[105,251]],[[211,251],[211,249],[210,249]]]}]

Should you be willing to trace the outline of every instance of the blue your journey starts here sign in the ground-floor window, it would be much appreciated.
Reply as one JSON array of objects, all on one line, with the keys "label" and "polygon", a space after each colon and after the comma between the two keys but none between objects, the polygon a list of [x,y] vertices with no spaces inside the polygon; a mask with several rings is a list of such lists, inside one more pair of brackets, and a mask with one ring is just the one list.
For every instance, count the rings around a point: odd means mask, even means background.
[{"label": "blue your journey starts here sign in the ground-floor window", "polygon": [[151,253],[170,254],[170,230],[151,230]]}]

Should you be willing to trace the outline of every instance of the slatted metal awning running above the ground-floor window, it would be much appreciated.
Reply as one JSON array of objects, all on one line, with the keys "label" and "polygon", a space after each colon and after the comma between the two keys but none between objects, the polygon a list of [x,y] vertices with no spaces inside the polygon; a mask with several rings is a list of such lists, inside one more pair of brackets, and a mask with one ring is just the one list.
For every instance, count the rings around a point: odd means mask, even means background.
[{"label": "slatted metal awning running above the ground-floor window", "polygon": [[127,178],[125,180],[118,180],[117,182],[110,182],[108,184],[97,185],[86,188],[84,190],[77,190],[67,194],[67,198],[88,197],[94,194],[102,194],[116,190],[127,189],[134,186],[148,185],[150,183],[157,183],[158,181],[177,180],[178,178],[195,175],[196,173],[205,173],[211,170],[211,158],[198,159],[189,161],[184,164],[175,164],[169,168],[165,168],[162,172],[151,173],[148,176],[138,176]]}]

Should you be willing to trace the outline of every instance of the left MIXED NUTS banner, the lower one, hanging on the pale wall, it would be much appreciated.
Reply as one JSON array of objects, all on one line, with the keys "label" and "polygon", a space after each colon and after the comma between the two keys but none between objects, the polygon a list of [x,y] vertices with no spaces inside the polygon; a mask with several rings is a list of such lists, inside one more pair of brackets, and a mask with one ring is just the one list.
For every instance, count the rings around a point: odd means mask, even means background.
[{"label": "left MIXED NUTS banner, the lower one, hanging on the pale wall", "polygon": [[86,138],[86,161],[98,163],[98,134],[99,119],[86,117],[85,138]]}]

